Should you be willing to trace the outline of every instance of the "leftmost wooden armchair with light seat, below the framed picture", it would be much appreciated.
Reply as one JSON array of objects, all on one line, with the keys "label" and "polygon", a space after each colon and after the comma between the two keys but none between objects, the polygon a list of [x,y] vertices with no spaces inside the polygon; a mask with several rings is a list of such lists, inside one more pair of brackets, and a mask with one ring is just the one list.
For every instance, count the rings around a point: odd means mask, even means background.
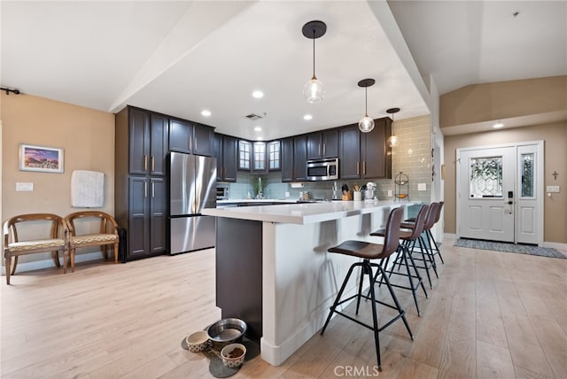
[{"label": "leftmost wooden armchair with light seat, below the framed picture", "polygon": [[[24,223],[27,224],[24,227]],[[49,236],[38,236],[37,239],[24,239],[20,236],[29,233],[24,232],[24,228],[40,230],[49,225]],[[21,227],[21,228],[19,228]],[[18,228],[20,233],[18,233]],[[59,264],[58,251],[63,251],[64,267],[66,273],[66,261],[69,259],[68,251],[68,229],[66,221],[57,214],[51,213],[30,213],[14,216],[4,222],[4,259],[6,268],[6,283],[10,284],[10,275],[14,275],[18,266],[20,255],[34,254],[36,252],[51,252],[51,258],[55,266]],[[12,266],[12,257],[14,259]],[[12,271],[11,271],[12,266]]]}]

